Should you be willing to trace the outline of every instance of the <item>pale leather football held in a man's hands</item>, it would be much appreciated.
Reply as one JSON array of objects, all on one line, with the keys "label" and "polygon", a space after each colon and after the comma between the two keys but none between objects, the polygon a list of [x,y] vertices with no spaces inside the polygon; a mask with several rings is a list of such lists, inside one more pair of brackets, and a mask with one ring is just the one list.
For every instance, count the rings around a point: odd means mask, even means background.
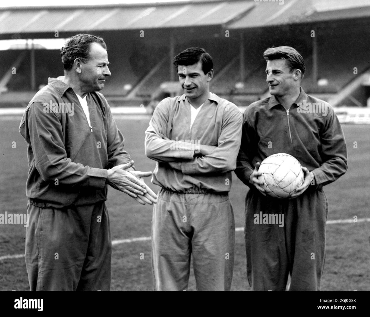
[{"label": "pale leather football held in a man's hands", "polygon": [[305,175],[296,158],[286,153],[277,153],[265,158],[258,171],[266,194],[274,198],[289,198],[302,185]]}]

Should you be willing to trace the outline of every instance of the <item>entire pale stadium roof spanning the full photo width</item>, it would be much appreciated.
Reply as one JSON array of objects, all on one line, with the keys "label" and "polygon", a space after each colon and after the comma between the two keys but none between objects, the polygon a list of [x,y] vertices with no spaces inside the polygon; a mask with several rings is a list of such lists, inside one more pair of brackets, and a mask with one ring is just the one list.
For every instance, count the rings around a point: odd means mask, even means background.
[{"label": "entire pale stadium roof spanning the full photo width", "polygon": [[263,1],[193,0],[101,6],[7,7],[0,8],[0,35],[194,26],[246,29],[370,17],[369,0]]}]

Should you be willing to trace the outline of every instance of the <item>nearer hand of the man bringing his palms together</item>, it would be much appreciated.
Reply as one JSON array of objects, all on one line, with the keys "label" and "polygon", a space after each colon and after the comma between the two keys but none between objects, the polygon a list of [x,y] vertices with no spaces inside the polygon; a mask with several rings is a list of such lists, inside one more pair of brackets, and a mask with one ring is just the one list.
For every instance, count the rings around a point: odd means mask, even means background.
[{"label": "nearer hand of the man bringing his palms together", "polygon": [[145,195],[147,190],[139,179],[126,171],[126,169],[130,168],[132,165],[134,165],[134,161],[108,169],[107,183],[113,188],[136,198],[138,195]]}]

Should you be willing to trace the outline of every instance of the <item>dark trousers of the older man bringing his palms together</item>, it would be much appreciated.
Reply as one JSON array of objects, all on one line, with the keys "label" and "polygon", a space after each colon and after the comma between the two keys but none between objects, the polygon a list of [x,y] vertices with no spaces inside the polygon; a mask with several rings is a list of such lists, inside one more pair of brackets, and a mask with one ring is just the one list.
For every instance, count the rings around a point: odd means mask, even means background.
[{"label": "dark trousers of the older man bringing his palms together", "polygon": [[109,291],[111,234],[104,202],[72,208],[27,204],[31,291]]}]

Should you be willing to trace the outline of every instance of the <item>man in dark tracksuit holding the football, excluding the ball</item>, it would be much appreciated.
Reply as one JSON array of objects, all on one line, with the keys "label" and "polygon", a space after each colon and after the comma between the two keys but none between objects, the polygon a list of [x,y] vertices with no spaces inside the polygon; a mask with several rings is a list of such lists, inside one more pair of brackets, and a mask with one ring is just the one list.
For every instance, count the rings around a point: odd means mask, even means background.
[{"label": "man in dark tracksuit holding the football, excluding the ball", "polygon": [[[255,291],[318,291],[325,259],[327,200],[322,187],[347,170],[347,149],[339,120],[323,100],[300,87],[305,62],[293,47],[267,49],[269,98],[243,115],[235,174],[249,186],[245,241],[249,285]],[[315,107],[313,107],[315,105]],[[294,156],[305,174],[290,199],[266,196],[260,163],[275,153]],[[285,225],[259,224],[255,215],[282,214]]]}]

